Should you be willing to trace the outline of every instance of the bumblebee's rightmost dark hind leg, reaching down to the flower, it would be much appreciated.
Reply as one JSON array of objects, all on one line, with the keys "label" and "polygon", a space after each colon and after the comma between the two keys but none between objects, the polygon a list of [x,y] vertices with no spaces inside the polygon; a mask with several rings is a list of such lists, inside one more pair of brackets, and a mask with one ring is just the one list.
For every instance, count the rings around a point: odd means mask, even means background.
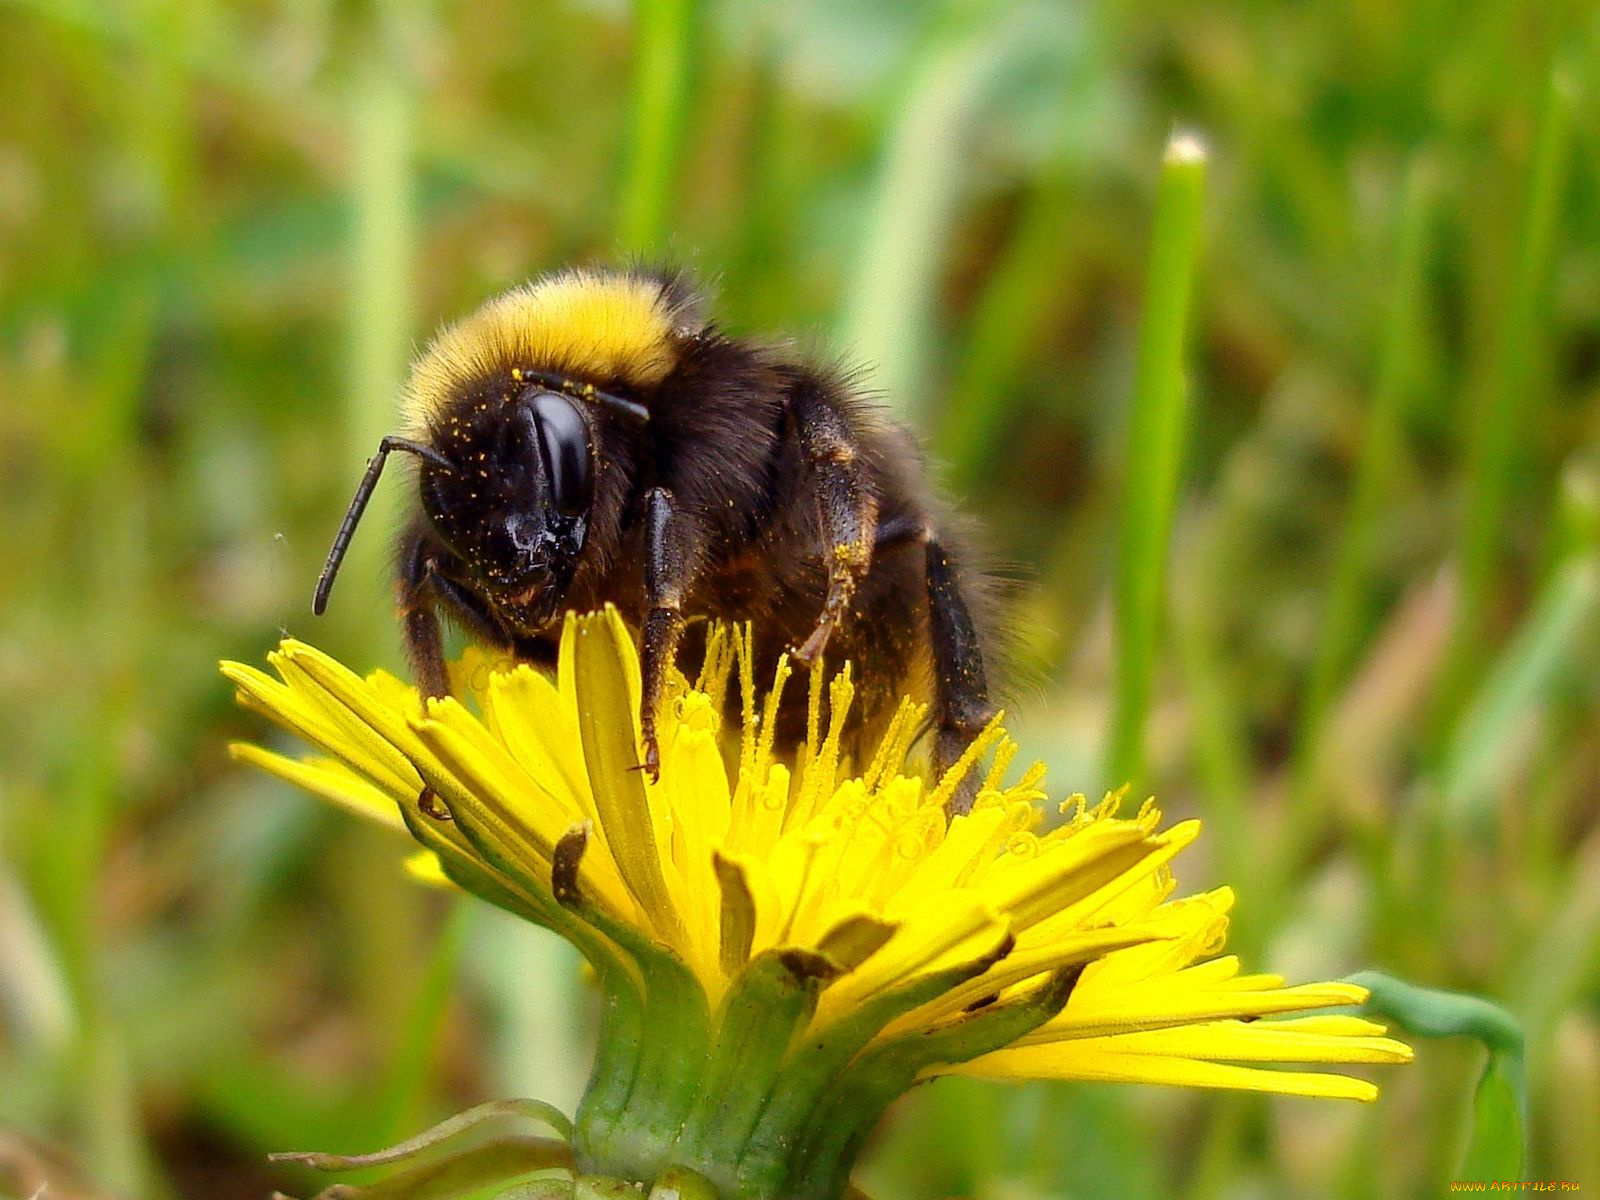
[{"label": "bumblebee's rightmost dark hind leg, reaching down to the flower", "polygon": [[[933,650],[936,741],[933,765],[941,774],[955,765],[994,718],[982,640],[962,597],[955,563],[936,536],[928,536],[928,642]],[[973,808],[979,776],[968,771],[949,800],[950,816]]]}]

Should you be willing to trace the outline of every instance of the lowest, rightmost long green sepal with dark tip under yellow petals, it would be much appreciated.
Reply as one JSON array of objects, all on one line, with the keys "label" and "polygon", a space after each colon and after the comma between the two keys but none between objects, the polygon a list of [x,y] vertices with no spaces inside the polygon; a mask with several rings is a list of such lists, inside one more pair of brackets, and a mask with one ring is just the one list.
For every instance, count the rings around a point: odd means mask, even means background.
[{"label": "lowest, rightmost long green sepal with dark tip under yellow petals", "polygon": [[786,1200],[842,1195],[867,1134],[923,1070],[941,1062],[966,1062],[1038,1029],[1062,1010],[1082,973],[1082,965],[1059,968],[1019,1000],[981,1008],[938,1029],[901,1034],[866,1050],[834,1080],[798,1131],[781,1195]]}]

